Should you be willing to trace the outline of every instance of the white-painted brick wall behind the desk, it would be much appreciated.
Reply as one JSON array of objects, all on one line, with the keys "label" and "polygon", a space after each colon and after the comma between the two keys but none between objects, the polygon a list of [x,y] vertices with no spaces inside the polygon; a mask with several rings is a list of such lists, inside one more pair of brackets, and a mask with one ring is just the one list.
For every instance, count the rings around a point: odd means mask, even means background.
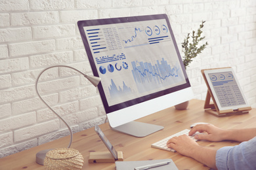
[{"label": "white-painted brick wall behind the desk", "polygon": [[[256,107],[255,0],[0,0],[0,158],[68,135],[39,100],[34,84],[51,65],[92,74],[78,20],[160,13],[169,16],[180,50],[187,33],[206,21],[209,46],[187,69],[196,99],[205,99],[207,92],[200,70],[229,66]],[[100,96],[83,76],[53,68],[40,82],[43,99],[72,131],[104,122]]]}]

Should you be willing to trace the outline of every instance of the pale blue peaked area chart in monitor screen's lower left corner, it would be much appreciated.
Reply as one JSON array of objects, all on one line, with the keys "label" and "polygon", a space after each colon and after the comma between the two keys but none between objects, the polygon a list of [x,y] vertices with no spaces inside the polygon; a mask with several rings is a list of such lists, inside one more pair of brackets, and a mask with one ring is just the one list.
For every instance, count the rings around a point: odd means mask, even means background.
[{"label": "pale blue peaked area chart in monitor screen's lower left corner", "polygon": [[108,90],[110,92],[110,98],[117,99],[118,97],[123,97],[125,95],[129,95],[132,93],[131,88],[129,88],[125,82],[123,82],[123,86],[116,86],[114,83],[114,80],[111,79],[110,87],[108,87]]}]

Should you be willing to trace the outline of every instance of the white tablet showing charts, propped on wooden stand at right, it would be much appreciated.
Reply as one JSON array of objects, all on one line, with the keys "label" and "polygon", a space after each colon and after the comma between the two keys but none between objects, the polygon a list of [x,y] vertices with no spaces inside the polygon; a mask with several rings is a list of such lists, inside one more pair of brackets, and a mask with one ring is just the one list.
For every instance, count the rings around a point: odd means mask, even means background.
[{"label": "white tablet showing charts, propped on wooden stand at right", "polygon": [[250,107],[231,67],[205,69],[202,72],[219,110]]}]

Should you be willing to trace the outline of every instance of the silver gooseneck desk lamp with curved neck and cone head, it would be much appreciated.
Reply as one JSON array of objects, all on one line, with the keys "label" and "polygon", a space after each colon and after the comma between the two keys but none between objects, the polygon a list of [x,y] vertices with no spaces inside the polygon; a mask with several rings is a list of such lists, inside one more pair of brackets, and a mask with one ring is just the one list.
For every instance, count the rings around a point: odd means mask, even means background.
[{"label": "silver gooseneck desk lamp with curved neck and cone head", "polygon": [[[44,69],[43,71],[41,71],[41,73],[37,76],[37,80],[35,81],[35,91],[37,93],[37,95],[39,96],[39,98],[41,99],[41,101],[43,101],[43,103],[45,103],[45,105],[47,105],[47,107],[52,110],[54,112],[54,114],[56,114],[56,116],[58,116],[58,118],[60,118],[60,120],[62,120],[62,122],[64,122],[64,124],[66,124],[66,126],[68,127],[68,130],[70,131],[70,144],[68,145],[68,148],[70,148],[70,145],[72,144],[72,140],[73,140],[73,133],[72,133],[72,130],[70,128],[70,126],[68,126],[67,122],[59,115],[57,114],[44,100],[43,98],[41,97],[41,95],[39,94],[38,92],[38,88],[37,88],[37,84],[38,84],[38,80],[40,78],[40,76],[45,72],[47,71],[48,69],[51,69],[53,67],[68,67],[70,69],[74,69],[75,71],[81,73],[83,76],[85,76],[85,78],[87,78],[95,87],[98,86],[98,83],[100,82],[100,78],[99,77],[96,77],[96,76],[90,76],[90,75],[85,75],[84,73],[82,73],[81,71],[73,68],[73,67],[70,67],[70,66],[67,66],[67,65],[54,65],[52,67],[48,67],[46,69]],[[46,153],[49,151],[49,150],[52,150],[52,149],[47,149],[47,150],[41,150],[40,152],[37,152],[36,154],[36,162],[40,165],[43,165],[43,161],[45,160],[45,155]]]}]

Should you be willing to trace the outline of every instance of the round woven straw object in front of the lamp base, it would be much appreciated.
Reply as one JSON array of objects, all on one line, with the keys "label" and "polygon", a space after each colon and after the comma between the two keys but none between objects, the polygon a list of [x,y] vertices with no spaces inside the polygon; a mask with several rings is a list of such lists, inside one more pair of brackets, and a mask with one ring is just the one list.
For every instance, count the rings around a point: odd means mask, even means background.
[{"label": "round woven straw object in front of the lamp base", "polygon": [[47,152],[45,169],[82,169],[83,156],[73,148],[56,148]]}]

